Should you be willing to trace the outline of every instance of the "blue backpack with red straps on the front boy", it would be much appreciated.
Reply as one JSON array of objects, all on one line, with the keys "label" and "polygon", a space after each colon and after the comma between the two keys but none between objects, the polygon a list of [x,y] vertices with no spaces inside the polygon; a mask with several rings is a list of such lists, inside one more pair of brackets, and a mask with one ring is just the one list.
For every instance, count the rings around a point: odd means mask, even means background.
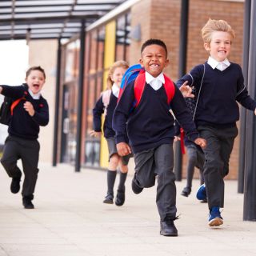
[{"label": "blue backpack with red straps on the front boy", "polygon": [[[165,84],[163,86],[166,90],[167,103],[170,104],[170,101],[172,100],[172,98],[174,98],[175,86],[174,86],[174,82],[172,82],[170,78],[166,77],[165,74],[164,74],[164,78],[165,78]],[[135,100],[132,107],[132,110],[134,110],[134,108],[137,107],[139,102],[141,101],[142,94],[146,84],[145,70],[144,68],[142,68],[140,64],[130,66],[129,69],[126,70],[126,73],[122,78],[120,91],[118,95],[118,101],[120,100],[123,90],[125,90],[126,88],[126,85],[132,81],[134,81]]]}]

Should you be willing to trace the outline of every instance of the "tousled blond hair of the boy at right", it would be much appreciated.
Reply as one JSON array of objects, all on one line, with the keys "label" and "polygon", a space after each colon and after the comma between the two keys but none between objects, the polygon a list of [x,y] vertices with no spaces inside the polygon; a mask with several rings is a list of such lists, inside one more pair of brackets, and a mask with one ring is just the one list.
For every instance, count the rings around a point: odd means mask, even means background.
[{"label": "tousled blond hair of the boy at right", "polygon": [[206,23],[205,26],[203,26],[201,30],[203,42],[210,43],[211,36],[214,31],[227,32],[230,34],[230,37],[232,40],[235,38],[234,30],[231,28],[228,22],[223,21],[222,19],[215,20],[215,19],[209,18],[209,21]]}]

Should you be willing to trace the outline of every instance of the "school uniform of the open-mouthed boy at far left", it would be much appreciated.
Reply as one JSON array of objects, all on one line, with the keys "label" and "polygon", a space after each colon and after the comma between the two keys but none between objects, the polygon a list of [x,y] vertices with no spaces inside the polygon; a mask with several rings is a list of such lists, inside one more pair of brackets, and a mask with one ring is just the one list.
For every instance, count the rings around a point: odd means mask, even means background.
[{"label": "school uniform of the open-mouthed boy at far left", "polygon": [[[25,174],[22,197],[32,200],[38,178],[39,126],[48,124],[49,107],[46,99],[41,94],[34,95],[26,84],[2,86],[2,94],[14,100],[18,98],[22,98],[22,100],[14,107],[1,163],[10,178],[20,178],[22,171],[18,168],[17,161],[18,159],[22,160]],[[34,106],[33,117],[24,109],[25,102],[31,102]]]}]

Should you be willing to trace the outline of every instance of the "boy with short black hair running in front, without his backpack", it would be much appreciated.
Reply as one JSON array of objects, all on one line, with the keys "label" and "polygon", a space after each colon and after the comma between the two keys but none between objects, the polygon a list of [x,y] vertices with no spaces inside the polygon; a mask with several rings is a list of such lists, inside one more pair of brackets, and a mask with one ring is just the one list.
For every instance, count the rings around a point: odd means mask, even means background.
[{"label": "boy with short black hair running in front, without his backpack", "polygon": [[[174,117],[182,124],[187,136],[199,146],[206,141],[198,138],[198,131],[190,117],[186,102],[178,87],[174,97],[167,102],[165,78],[162,70],[168,65],[166,44],[158,39],[143,43],[140,64],[145,68],[146,83],[138,106],[134,104],[134,82],[127,84],[114,111],[113,128],[116,132],[118,154],[134,153],[135,174],[132,189],[135,194],[143,188],[154,186],[158,175],[156,202],[160,215],[160,234],[177,236],[176,186],[173,173]],[[126,143],[126,130],[130,146]]]}]

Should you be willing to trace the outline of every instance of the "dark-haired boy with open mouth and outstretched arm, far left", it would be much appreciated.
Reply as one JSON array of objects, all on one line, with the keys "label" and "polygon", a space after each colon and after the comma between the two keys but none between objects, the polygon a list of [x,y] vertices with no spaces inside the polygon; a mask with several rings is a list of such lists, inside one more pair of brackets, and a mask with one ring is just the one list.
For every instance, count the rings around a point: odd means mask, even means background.
[{"label": "dark-haired boy with open mouth and outstretched arm, far left", "polygon": [[10,118],[8,134],[3,148],[1,163],[12,178],[10,191],[17,194],[20,190],[22,171],[17,166],[22,160],[25,174],[22,187],[22,203],[26,209],[33,209],[34,188],[38,178],[38,142],[39,126],[49,122],[48,104],[42,98],[41,90],[46,81],[46,74],[40,66],[33,66],[26,71],[26,83],[22,86],[0,86],[0,94],[21,99],[14,107]]}]

